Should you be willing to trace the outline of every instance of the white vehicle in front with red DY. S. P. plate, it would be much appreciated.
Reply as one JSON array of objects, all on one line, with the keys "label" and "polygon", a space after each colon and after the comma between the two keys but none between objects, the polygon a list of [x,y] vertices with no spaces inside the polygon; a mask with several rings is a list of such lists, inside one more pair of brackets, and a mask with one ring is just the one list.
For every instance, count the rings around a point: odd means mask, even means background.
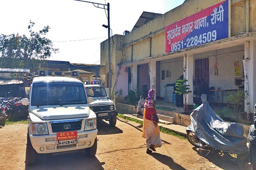
[{"label": "white vehicle in front with red DY. S. P. plate", "polygon": [[[26,164],[36,163],[43,153],[81,151],[94,156],[97,150],[96,115],[90,110],[84,84],[75,78],[35,77],[30,87]],[[67,152],[66,152],[67,153]],[[57,154],[57,153],[55,153]]]}]

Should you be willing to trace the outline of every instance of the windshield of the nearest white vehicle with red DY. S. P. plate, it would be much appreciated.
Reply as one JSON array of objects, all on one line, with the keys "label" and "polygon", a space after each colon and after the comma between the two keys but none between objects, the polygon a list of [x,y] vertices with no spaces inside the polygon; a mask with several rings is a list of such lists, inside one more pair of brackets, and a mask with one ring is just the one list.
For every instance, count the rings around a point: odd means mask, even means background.
[{"label": "windshield of the nearest white vehicle with red DY. S. P. plate", "polygon": [[87,104],[83,84],[35,83],[32,87],[31,106]]}]

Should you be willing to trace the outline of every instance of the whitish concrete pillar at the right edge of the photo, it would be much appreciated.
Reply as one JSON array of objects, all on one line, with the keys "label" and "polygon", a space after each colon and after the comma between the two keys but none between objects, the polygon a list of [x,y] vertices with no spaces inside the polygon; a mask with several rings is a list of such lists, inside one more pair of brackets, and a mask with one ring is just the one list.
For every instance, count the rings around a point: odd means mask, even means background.
[{"label": "whitish concrete pillar at the right edge of the photo", "polygon": [[[248,78],[248,86],[249,86],[248,88],[249,98],[245,101],[245,108],[246,108],[246,104],[248,104],[249,102],[250,106],[248,108],[248,113],[253,113],[254,105],[256,103],[256,88],[255,88],[256,87],[256,41],[245,42],[244,48],[245,48],[244,58],[248,67],[247,78]],[[247,110],[245,109],[245,111]]]}]

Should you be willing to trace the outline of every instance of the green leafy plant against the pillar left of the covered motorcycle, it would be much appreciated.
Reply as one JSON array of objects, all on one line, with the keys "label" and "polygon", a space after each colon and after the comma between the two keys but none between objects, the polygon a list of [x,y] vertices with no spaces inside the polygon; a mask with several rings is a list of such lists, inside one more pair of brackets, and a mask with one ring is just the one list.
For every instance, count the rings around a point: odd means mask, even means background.
[{"label": "green leafy plant against the pillar left of the covered motorcycle", "polygon": [[188,82],[188,80],[186,80],[186,79],[176,80],[176,84],[175,84],[176,90],[174,91],[177,95],[184,95],[184,103],[185,103],[184,110],[186,112],[189,111],[188,105],[186,104],[187,103],[187,94],[192,92],[189,88],[190,85],[188,85],[187,82]]}]

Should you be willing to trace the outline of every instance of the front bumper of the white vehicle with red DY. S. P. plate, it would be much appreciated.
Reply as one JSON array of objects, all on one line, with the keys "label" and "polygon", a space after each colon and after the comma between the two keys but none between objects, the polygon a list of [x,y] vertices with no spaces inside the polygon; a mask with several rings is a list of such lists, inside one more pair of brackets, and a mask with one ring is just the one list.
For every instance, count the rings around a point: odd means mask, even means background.
[{"label": "front bumper of the white vehicle with red DY. S. P. plate", "polygon": [[[54,153],[62,151],[70,151],[76,149],[84,149],[92,147],[94,140],[97,137],[98,130],[89,130],[83,132],[77,132],[77,144],[65,145],[64,147],[57,147],[56,134],[52,135],[32,135],[29,133],[29,137],[32,143],[33,148],[37,153]],[[90,143],[91,142],[91,143]],[[43,151],[42,148],[43,147]],[[41,148],[41,150],[40,150]]]}]

